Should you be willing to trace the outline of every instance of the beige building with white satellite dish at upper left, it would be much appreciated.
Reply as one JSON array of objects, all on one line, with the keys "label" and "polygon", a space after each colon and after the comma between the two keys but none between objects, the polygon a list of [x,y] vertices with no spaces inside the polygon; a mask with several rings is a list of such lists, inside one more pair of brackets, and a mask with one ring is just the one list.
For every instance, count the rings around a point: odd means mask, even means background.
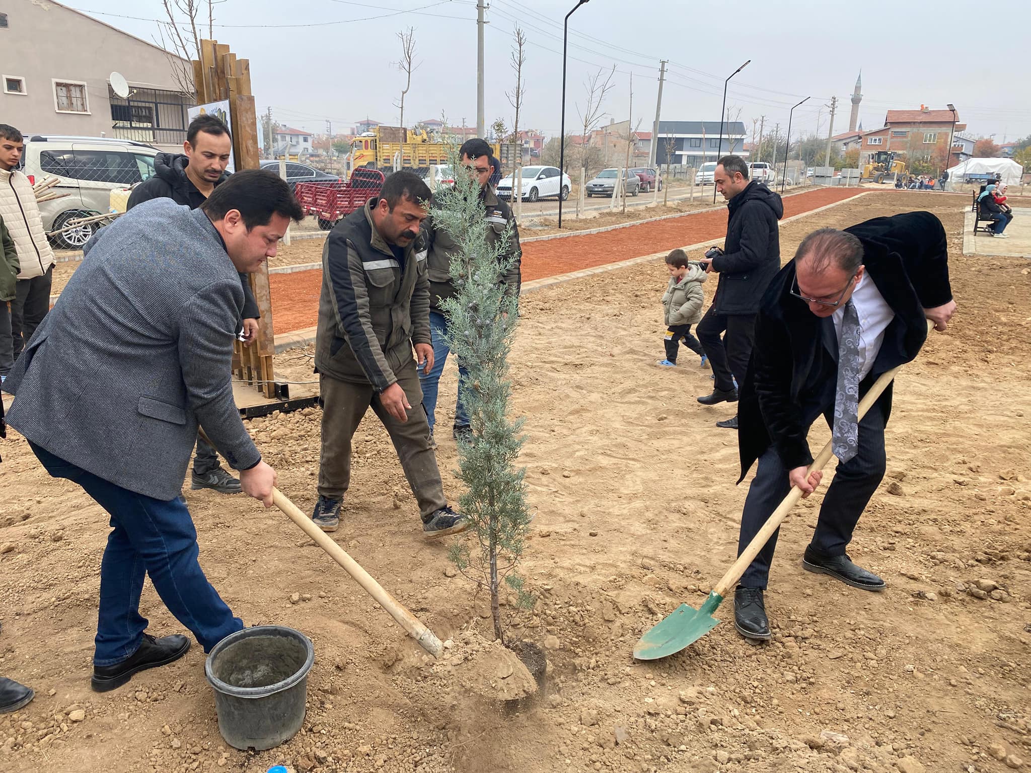
[{"label": "beige building with white satellite dish at upper left", "polygon": [[[181,150],[187,108],[195,104],[189,62],[53,0],[15,0],[0,11],[3,123],[24,134],[114,137]],[[129,82],[127,98],[111,89],[112,72]]]}]

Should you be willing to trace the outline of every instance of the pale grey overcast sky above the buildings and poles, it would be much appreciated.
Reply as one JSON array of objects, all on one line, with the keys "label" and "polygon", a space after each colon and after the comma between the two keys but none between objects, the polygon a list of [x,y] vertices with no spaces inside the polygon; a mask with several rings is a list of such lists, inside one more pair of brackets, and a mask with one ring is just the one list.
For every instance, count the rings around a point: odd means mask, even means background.
[{"label": "pale grey overcast sky above the buildings and poles", "polygon": [[[147,40],[157,36],[161,0],[78,0],[78,8]],[[487,125],[511,126],[505,96],[512,30],[528,38],[526,99],[521,128],[557,135],[562,93],[562,19],[575,0],[491,0],[486,28]],[[984,10],[984,8],[989,8]],[[101,13],[101,11],[103,13]],[[112,15],[121,14],[121,15]],[[129,19],[124,16],[136,16]],[[258,110],[276,121],[323,132],[346,131],[366,116],[396,124],[403,75],[396,67],[396,33],[415,29],[419,68],[405,101],[405,124],[440,117],[476,123],[476,4],[474,0],[225,0],[215,6],[214,37],[251,60]],[[883,126],[888,109],[956,105],[967,134],[1013,140],[1031,134],[1031,78],[1017,36],[1028,29],[1031,2],[964,0],[829,3],[824,0],[590,0],[570,18],[566,131],[576,131],[584,82],[599,67],[617,67],[605,101],[608,116],[625,120],[633,75],[633,121],[651,130],[659,60],[668,76],[662,117],[719,121],[723,81],[728,106],[751,134],[753,119],[792,135],[849,129],[849,98],[862,69],[864,129]],[[1012,34],[1007,30],[1012,31]],[[206,34],[206,27],[205,27]],[[1015,40],[1012,45],[1009,44]],[[994,53],[992,53],[994,51]],[[124,73],[133,79],[131,66]]]}]

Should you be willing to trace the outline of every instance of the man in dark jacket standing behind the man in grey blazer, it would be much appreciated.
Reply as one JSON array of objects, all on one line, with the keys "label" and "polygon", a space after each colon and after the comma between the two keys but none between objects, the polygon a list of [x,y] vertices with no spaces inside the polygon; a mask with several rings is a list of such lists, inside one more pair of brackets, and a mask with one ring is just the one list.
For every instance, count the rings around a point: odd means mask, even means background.
[{"label": "man in dark jacket standing behind the man in grey blazer", "polygon": [[[198,115],[190,122],[187,141],[181,154],[158,154],[154,159],[155,174],[151,179],[133,189],[129,196],[129,209],[151,199],[171,199],[180,206],[196,209],[211,195],[215,186],[229,175],[233,138],[229,129],[214,115]],[[244,345],[258,334],[258,303],[251,292],[251,282],[240,274],[243,288],[243,312],[240,328]],[[239,494],[240,481],[222,468],[219,452],[210,443],[197,438],[197,453],[191,474],[191,489],[213,489],[222,494]]]}]

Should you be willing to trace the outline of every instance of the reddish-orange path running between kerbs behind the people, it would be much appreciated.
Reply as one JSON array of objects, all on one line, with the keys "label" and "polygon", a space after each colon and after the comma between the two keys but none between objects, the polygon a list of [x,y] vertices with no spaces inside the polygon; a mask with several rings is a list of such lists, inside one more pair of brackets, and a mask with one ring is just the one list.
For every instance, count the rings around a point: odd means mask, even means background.
[{"label": "reddish-orange path running between kerbs behind the people", "polygon": [[[784,216],[808,212],[856,196],[854,188],[823,188],[789,196]],[[600,234],[532,241],[523,246],[523,281],[565,274],[594,266],[661,253],[685,244],[716,239],[727,232],[727,210],[687,213],[656,223],[629,226]],[[319,320],[322,271],[269,276],[276,333],[310,328]]]}]

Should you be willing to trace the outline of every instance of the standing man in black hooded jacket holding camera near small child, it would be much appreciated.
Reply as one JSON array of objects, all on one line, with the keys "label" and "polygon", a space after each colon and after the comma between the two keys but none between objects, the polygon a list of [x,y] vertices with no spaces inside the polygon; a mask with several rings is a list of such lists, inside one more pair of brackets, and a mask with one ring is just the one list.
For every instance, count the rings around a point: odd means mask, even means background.
[{"label": "standing man in black hooded jacket holding camera near small child", "polygon": [[[739,156],[720,159],[712,176],[729,216],[722,254],[702,260],[720,272],[716,298],[697,331],[716,381],[711,395],[698,398],[702,405],[735,402],[737,384],[744,383],[759,300],[780,268],[777,221],[784,215],[780,197],[764,182],[749,181],[749,165]],[[736,430],[737,416],[717,426]]]}]

